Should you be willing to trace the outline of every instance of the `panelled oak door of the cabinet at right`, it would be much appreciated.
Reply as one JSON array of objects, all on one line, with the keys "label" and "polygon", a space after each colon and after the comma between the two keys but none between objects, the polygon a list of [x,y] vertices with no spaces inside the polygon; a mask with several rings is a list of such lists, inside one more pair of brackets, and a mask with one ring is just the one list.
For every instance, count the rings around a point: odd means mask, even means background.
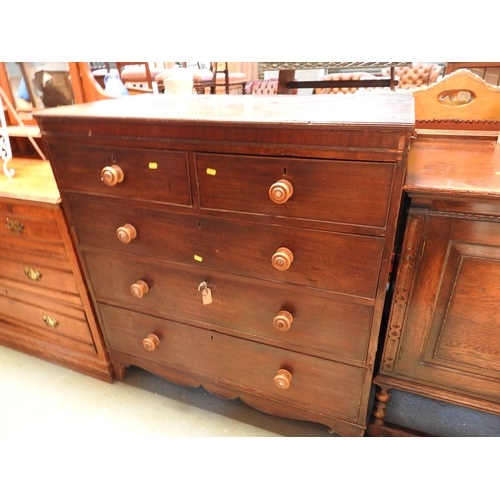
[{"label": "panelled oak door of the cabinet at right", "polygon": [[500,224],[426,224],[395,374],[500,402]]}]

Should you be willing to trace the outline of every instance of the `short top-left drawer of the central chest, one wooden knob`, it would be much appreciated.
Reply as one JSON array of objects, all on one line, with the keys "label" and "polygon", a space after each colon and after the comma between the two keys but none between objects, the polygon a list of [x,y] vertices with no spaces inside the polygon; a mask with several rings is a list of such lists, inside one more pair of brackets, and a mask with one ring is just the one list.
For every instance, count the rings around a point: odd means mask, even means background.
[{"label": "short top-left drawer of the central chest, one wooden knob", "polygon": [[[154,149],[51,145],[62,190],[86,191],[168,205],[192,205],[187,154]],[[102,179],[123,179],[107,185]],[[103,169],[110,167],[106,175]],[[117,177],[114,177],[114,176]],[[110,183],[114,180],[108,181]]]}]

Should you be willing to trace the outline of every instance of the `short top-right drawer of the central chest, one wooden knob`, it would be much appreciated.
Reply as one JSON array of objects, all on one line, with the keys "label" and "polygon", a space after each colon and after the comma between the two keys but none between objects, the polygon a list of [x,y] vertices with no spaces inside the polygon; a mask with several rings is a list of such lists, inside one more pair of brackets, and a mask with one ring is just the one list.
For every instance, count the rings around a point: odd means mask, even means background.
[{"label": "short top-right drawer of the central chest, one wooden knob", "polygon": [[197,154],[196,168],[202,208],[382,228],[395,165]]}]

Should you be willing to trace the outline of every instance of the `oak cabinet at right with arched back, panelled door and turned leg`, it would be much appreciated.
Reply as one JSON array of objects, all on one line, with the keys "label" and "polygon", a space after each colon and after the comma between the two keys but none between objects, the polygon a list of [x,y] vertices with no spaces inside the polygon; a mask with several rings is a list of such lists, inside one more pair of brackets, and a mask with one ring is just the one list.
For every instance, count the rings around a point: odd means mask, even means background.
[{"label": "oak cabinet at right with arched back, panelled door and turned leg", "polygon": [[418,433],[386,421],[392,389],[500,414],[499,92],[459,70],[414,94],[420,128],[371,436]]}]

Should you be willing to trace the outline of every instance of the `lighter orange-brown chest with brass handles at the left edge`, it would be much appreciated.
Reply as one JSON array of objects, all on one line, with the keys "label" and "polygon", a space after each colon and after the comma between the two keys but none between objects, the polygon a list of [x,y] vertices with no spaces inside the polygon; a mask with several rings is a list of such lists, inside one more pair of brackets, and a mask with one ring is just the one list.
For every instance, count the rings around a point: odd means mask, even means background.
[{"label": "lighter orange-brown chest with brass handles at the left edge", "polygon": [[49,162],[0,179],[0,343],[112,381]]}]

